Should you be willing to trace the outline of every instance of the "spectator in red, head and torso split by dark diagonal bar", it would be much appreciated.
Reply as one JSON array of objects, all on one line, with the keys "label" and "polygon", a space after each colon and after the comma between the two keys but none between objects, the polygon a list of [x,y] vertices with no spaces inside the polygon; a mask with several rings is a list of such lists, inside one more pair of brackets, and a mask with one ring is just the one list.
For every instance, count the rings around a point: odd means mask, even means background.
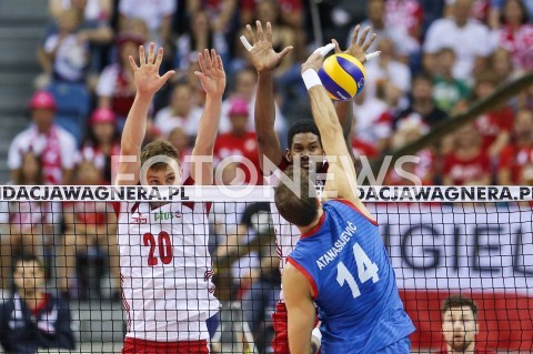
[{"label": "spectator in red, head and torso split by dark diagonal bar", "polygon": [[[475,79],[473,99],[482,99],[497,88],[499,77],[491,71],[481,72]],[[483,150],[492,160],[496,160],[502,149],[509,143],[513,129],[514,113],[506,103],[484,113],[475,121],[482,136]]]}]

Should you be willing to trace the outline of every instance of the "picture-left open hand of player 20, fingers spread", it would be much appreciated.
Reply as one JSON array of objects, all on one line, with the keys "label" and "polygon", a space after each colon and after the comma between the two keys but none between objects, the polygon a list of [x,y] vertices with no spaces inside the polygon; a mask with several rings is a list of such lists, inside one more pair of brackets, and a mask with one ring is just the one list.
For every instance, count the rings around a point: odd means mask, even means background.
[{"label": "picture-left open hand of player 20, fingers spread", "polygon": [[148,60],[144,58],[144,47],[139,47],[139,67],[133,57],[129,57],[133,70],[137,91],[141,94],[154,94],[175,72],[170,70],[162,77],[159,75],[159,68],[163,61],[163,48],[161,47],[155,57],[155,44],[150,43]]}]

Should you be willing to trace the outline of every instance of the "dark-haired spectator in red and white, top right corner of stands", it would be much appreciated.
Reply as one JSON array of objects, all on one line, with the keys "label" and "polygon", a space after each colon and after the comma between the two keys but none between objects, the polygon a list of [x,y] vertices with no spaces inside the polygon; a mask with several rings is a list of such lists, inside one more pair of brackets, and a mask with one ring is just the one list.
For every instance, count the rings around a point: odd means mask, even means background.
[{"label": "dark-haired spectator in red and white, top right corner of stands", "polygon": [[527,23],[527,12],[522,0],[506,0],[503,7],[503,26],[497,31],[499,45],[507,50],[516,69],[533,69],[533,24]]}]

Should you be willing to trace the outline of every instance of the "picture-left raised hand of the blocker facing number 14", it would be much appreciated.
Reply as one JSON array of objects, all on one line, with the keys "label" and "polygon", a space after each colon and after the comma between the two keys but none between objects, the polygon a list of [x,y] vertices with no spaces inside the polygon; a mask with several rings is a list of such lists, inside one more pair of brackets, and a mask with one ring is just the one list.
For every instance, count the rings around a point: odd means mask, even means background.
[{"label": "picture-left raised hand of the blocker facing number 14", "polygon": [[[270,22],[266,22],[265,33],[263,32],[261,21],[255,21],[255,27],[257,34],[253,32],[252,27],[247,24],[248,34],[252,39],[251,49],[247,48],[250,52],[250,60],[258,71],[272,70],[280,64],[281,60],[292,50],[293,47],[285,47],[281,52],[276,53],[272,48],[272,26]],[[244,44],[244,47],[247,47],[247,44]]]}]

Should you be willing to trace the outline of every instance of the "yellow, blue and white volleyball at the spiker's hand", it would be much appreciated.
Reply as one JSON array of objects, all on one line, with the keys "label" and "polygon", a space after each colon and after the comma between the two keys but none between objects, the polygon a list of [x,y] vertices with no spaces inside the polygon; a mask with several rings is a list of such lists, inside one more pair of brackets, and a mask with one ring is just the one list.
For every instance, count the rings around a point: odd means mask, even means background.
[{"label": "yellow, blue and white volleyball at the spiker's hand", "polygon": [[330,97],[335,101],[350,100],[364,88],[366,72],[352,55],[340,53],[324,60],[319,77]]}]

